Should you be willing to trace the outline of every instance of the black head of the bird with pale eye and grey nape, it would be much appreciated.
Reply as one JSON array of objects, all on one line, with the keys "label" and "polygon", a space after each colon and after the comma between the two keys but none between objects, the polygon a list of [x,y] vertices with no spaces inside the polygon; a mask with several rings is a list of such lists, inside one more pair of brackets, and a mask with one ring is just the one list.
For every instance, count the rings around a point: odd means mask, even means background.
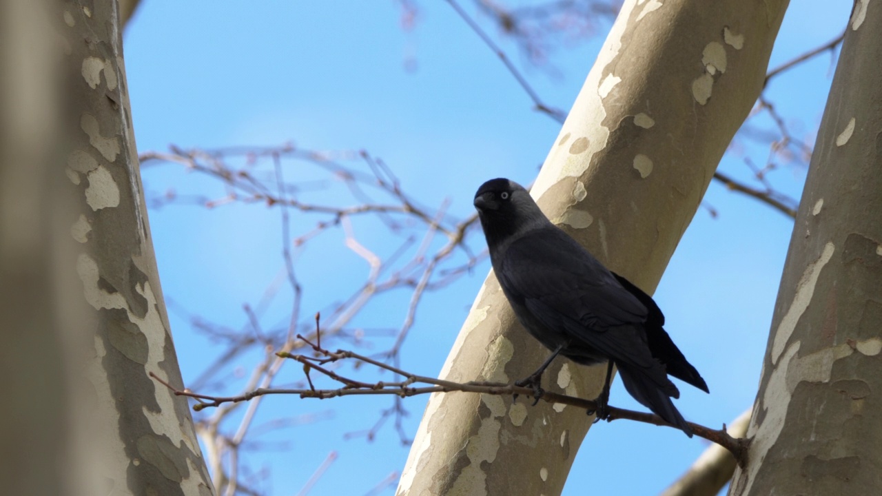
[{"label": "black head of the bird with pale eye and grey nape", "polygon": [[549,222],[530,193],[504,177],[490,179],[478,188],[475,208],[488,243]]}]

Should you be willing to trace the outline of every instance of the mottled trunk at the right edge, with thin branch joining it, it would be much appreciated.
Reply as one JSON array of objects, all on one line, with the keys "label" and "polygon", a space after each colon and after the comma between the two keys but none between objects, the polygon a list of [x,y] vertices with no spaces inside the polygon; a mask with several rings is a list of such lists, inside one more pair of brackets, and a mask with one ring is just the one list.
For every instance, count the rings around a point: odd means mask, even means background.
[{"label": "mottled trunk at the right edge, with thin branch joining it", "polygon": [[729,494],[882,492],[882,9],[857,2]]}]

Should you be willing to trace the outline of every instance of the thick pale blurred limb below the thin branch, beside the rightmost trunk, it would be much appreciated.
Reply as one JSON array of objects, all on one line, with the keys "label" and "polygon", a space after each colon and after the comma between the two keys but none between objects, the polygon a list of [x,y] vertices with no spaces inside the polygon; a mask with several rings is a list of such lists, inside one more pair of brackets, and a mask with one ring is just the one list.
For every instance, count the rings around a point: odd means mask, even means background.
[{"label": "thick pale blurred limb below the thin branch, beside the rightmost trunk", "polygon": [[[751,423],[751,410],[745,410],[729,426],[729,435],[744,438]],[[725,429],[724,429],[725,430]],[[662,492],[662,496],[714,496],[735,473],[735,457],[720,445],[711,445],[692,463],[679,479]]]}]

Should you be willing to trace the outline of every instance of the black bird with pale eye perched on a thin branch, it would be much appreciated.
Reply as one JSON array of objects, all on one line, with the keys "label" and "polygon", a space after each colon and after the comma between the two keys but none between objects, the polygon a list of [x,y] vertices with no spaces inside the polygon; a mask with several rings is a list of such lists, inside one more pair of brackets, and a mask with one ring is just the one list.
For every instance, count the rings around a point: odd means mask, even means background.
[{"label": "black bird with pale eye perched on a thin branch", "polygon": [[705,392],[707,385],[662,328],[664,315],[653,298],[552,224],[520,184],[504,178],[482,184],[475,208],[505,297],[527,331],[553,351],[520,384],[541,395],[542,371],[558,354],[578,364],[607,362],[597,400],[602,419],[616,364],[635,400],[691,437],[670,401],[680,392],[668,375]]}]

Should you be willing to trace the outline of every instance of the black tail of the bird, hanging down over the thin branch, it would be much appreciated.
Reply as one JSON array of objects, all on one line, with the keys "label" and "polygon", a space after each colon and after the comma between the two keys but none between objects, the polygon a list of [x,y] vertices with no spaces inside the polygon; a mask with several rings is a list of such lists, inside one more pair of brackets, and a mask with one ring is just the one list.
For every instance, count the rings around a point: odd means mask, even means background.
[{"label": "black tail of the bird, hanging down over the thin branch", "polygon": [[670,401],[671,396],[679,397],[680,392],[663,372],[663,368],[661,369],[661,379],[664,382],[660,384],[660,378],[654,378],[653,376],[657,374],[652,373],[657,371],[647,371],[639,367],[639,365],[635,366],[632,364],[617,363],[616,367],[624,383],[624,388],[635,400],[649,410],[652,410],[655,415],[662,417],[665,422],[674,425],[685,432],[687,436],[692,437],[691,428],[679,410],[676,410],[674,402]]}]

